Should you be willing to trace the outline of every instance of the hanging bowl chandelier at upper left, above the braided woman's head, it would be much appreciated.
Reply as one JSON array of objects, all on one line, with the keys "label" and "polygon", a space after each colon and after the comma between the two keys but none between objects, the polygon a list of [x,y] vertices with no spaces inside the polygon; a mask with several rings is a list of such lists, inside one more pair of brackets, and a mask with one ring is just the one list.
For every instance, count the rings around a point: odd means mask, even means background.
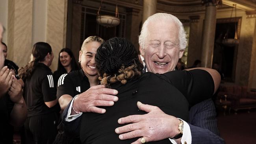
[{"label": "hanging bowl chandelier at upper left, above the braided woman's head", "polygon": [[100,2],[100,7],[98,9],[97,18],[96,21],[98,24],[105,26],[105,27],[114,27],[119,25],[120,19],[119,19],[119,13],[118,13],[118,7],[117,7],[117,1],[115,1],[115,17],[111,15],[100,15],[100,8],[102,6],[102,1]]}]

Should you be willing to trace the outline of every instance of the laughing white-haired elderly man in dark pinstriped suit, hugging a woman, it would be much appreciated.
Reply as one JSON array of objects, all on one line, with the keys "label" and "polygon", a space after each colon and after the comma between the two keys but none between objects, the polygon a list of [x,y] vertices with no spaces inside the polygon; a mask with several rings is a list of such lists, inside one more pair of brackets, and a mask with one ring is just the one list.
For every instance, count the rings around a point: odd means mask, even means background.
[{"label": "laughing white-haired elderly man in dark pinstriped suit, hugging a woman", "polygon": [[[163,74],[173,71],[178,59],[182,57],[187,44],[186,33],[178,18],[167,13],[157,13],[148,17],[144,22],[139,36],[139,44],[147,71]],[[102,92],[103,90],[106,90],[106,88],[99,91]],[[108,90],[108,93],[105,94],[113,95],[113,93],[114,91]],[[96,92],[93,92],[93,87],[91,87],[91,90],[89,89],[84,93],[84,97],[88,100],[94,99],[91,102],[85,102],[85,106],[81,107],[79,111],[105,113],[106,110],[98,106],[111,106],[116,101],[115,97],[106,100],[108,95],[96,94]],[[159,108],[155,109],[151,105],[143,104],[140,106],[140,110],[148,113],[127,116],[118,120],[119,124],[127,124],[115,129],[115,132],[120,134],[119,138],[121,140],[138,137],[132,144],[165,138],[169,138],[170,143],[174,144],[224,143],[224,140],[218,136],[215,107],[210,99],[191,107],[189,122],[183,121],[177,126],[171,125],[172,120],[177,120],[177,118],[163,113]],[[64,119],[67,114],[63,115]],[[72,119],[72,116],[68,115],[68,117]],[[79,123],[79,118],[73,119],[72,122],[64,122],[65,126],[68,127],[66,129],[77,128]],[[166,127],[166,129],[160,129],[160,125]],[[168,137],[170,135],[176,136]]]}]

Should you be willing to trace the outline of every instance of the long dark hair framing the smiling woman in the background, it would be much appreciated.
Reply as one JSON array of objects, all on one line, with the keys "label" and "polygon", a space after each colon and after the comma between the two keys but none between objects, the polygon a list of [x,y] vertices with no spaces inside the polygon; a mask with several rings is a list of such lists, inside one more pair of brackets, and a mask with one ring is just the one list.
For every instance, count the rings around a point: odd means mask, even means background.
[{"label": "long dark hair framing the smiling woman in the background", "polygon": [[71,61],[70,61],[71,69],[72,70],[78,70],[78,66],[76,64],[76,58],[74,57],[74,54],[72,53],[72,51],[69,48],[63,48],[59,52],[57,71],[59,71],[61,73],[66,73],[66,70],[65,70],[64,66],[61,65],[61,62],[60,62],[60,53],[62,53],[62,52],[67,52],[69,54],[69,56],[71,58]]}]

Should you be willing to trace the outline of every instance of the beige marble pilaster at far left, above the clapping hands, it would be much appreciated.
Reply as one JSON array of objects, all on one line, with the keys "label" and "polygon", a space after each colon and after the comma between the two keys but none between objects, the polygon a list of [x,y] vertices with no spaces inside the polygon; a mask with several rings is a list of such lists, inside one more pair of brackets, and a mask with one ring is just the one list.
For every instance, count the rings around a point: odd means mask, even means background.
[{"label": "beige marble pilaster at far left, above the clapping hands", "polygon": [[32,52],[33,0],[8,1],[8,59],[24,66]]}]

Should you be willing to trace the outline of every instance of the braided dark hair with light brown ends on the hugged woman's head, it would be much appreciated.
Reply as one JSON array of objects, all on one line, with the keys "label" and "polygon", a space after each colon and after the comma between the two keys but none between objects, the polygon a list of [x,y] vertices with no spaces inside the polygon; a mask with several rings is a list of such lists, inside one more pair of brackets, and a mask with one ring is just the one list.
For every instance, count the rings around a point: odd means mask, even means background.
[{"label": "braided dark hair with light brown ends on the hugged woman's head", "polygon": [[101,84],[120,81],[139,76],[143,65],[139,61],[134,45],[124,38],[112,38],[104,42],[95,55],[96,67]]}]

